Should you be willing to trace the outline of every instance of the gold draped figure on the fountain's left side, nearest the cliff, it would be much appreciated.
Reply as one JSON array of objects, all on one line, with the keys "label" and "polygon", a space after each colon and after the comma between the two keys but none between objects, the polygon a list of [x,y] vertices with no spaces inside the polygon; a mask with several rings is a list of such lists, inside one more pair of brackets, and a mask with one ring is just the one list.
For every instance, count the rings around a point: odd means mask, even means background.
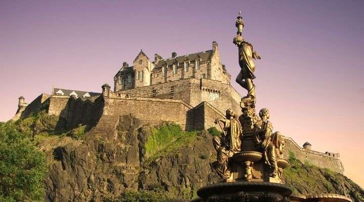
[{"label": "gold draped figure on the fountain's left side, nearest the cliff", "polygon": [[[220,122],[223,123],[223,127]],[[216,119],[215,124],[219,124],[224,131],[221,137],[214,136],[213,138],[213,145],[217,151],[218,166],[216,170],[223,179],[228,179],[231,176],[229,161],[235,153],[241,150],[243,131],[238,116],[231,109],[226,110],[225,119]]]}]

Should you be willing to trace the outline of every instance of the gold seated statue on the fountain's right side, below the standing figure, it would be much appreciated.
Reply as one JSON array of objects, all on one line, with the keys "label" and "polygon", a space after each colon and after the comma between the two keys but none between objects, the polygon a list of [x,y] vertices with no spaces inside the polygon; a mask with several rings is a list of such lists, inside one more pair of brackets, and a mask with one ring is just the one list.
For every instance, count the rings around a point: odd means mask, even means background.
[{"label": "gold seated statue on the fountain's right side, below the standing figure", "polygon": [[261,109],[259,117],[253,129],[253,141],[263,150],[264,164],[267,165],[269,177],[276,177],[278,156],[283,153],[284,143],[280,132],[272,133],[273,125],[268,121],[269,111]]}]

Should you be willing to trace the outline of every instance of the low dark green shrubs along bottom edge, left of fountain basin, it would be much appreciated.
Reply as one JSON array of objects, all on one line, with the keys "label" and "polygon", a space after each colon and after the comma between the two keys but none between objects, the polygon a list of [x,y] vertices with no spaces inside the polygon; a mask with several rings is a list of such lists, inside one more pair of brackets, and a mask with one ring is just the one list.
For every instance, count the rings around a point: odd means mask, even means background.
[{"label": "low dark green shrubs along bottom edge, left of fountain basin", "polygon": [[166,191],[134,191],[126,189],[119,197],[106,199],[105,202],[165,202],[171,199]]}]

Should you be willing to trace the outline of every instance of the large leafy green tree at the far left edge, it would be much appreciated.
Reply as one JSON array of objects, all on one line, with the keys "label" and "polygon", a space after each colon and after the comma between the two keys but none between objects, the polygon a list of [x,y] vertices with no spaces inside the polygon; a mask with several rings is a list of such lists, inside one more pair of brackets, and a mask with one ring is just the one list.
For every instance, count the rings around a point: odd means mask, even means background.
[{"label": "large leafy green tree at the far left edge", "polygon": [[0,122],[0,201],[42,201],[47,164],[26,132],[15,123]]}]

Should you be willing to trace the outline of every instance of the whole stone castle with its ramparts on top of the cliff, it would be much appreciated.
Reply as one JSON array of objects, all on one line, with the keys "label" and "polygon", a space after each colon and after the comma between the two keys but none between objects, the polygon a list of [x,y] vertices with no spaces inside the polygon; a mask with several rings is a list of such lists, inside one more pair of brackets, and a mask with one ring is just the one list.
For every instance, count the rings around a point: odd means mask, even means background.
[{"label": "whole stone castle with its ramparts on top of the cliff", "polygon": [[[98,131],[115,127],[120,116],[133,114],[143,124],[173,121],[188,131],[206,130],[215,126],[216,118],[224,117],[226,109],[242,114],[242,96],[230,80],[215,41],[208,51],[172,53],[167,59],[155,54],[154,61],[141,51],[133,66],[123,63],[114,76],[113,91],[108,84],[102,85],[101,93],[53,88],[51,94],[42,93],[30,104],[21,96],[12,120],[45,110],[65,120],[68,129],[81,124]],[[314,151],[308,142],[301,147],[290,137],[284,138],[284,158],[291,151],[302,163],[344,171],[339,154]]]}]

